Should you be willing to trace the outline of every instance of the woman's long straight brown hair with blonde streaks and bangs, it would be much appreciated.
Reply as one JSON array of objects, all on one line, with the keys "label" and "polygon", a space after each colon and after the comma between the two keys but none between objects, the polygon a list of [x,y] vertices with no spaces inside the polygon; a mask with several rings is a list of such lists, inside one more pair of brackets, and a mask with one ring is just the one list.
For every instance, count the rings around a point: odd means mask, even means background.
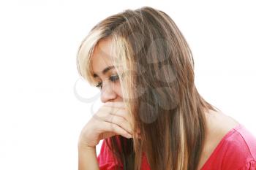
[{"label": "woman's long straight brown hair with blonde streaks and bangs", "polygon": [[[133,131],[107,142],[123,169],[139,170],[146,153],[151,170],[197,169],[206,138],[209,104],[197,92],[194,61],[187,41],[173,20],[159,9],[127,9],[99,22],[78,50],[78,71],[94,85],[91,54],[110,38],[124,103]],[[121,148],[118,147],[118,140]]]}]

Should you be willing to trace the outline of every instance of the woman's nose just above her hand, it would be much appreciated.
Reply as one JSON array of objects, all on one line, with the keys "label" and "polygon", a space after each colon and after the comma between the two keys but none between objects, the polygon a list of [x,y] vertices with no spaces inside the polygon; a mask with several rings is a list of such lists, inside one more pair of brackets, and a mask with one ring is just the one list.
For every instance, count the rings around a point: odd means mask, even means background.
[{"label": "woman's nose just above her hand", "polygon": [[102,90],[100,94],[100,99],[102,103],[105,103],[107,101],[113,101],[116,97],[117,94],[115,90],[113,89],[114,85],[111,85],[111,83],[105,82],[105,84],[102,83]]}]

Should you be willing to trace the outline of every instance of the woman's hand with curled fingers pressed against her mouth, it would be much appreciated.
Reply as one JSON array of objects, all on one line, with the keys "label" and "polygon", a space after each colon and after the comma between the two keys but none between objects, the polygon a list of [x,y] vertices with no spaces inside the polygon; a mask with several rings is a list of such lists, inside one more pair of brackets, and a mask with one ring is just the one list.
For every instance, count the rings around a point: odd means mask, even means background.
[{"label": "woman's hand with curled fingers pressed against her mouth", "polygon": [[123,102],[106,102],[83,127],[79,147],[96,147],[101,139],[121,135],[132,138],[131,117]]}]

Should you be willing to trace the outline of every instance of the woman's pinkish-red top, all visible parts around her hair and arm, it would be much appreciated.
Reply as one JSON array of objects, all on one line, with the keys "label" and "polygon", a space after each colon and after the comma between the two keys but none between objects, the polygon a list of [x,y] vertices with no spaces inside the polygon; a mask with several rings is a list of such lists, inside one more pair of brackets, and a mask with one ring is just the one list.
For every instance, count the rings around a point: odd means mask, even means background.
[{"label": "woman's pinkish-red top, all visible parts around her hair and arm", "polygon": [[[113,170],[116,163],[105,140],[98,155],[100,170]],[[256,138],[241,123],[222,138],[201,170],[256,170]],[[150,170],[143,155],[141,170]]]}]

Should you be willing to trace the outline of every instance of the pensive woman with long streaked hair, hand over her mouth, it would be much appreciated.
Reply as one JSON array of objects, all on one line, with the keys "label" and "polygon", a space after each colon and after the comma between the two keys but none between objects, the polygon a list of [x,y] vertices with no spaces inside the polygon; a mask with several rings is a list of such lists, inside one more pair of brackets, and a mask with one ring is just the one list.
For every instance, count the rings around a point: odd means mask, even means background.
[{"label": "pensive woman with long streaked hair, hand over her mouth", "polygon": [[94,26],[78,71],[104,105],[80,133],[78,168],[256,169],[255,136],[200,96],[193,70],[165,12],[127,9]]}]

